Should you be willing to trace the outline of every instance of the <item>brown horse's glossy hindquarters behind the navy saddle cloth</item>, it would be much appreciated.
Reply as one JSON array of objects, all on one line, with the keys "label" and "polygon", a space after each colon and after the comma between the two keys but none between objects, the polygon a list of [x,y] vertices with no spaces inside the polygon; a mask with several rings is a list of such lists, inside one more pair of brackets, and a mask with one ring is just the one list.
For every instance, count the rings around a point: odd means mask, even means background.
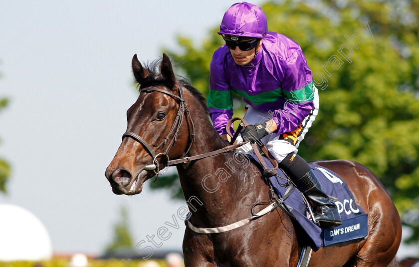
[{"label": "brown horse's glossy hindquarters behind the navy saddle cloth", "polygon": [[[346,266],[386,267],[393,261],[402,238],[399,212],[381,181],[365,166],[350,161],[319,163],[348,183],[354,198],[368,213],[368,236],[358,244],[358,253]],[[339,166],[339,168],[336,168]]]}]

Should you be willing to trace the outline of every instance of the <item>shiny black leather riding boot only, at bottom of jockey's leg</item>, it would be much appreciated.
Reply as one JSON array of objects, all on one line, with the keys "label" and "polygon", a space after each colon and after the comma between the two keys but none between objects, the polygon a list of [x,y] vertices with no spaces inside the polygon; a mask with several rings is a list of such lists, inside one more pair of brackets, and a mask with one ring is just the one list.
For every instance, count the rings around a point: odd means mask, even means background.
[{"label": "shiny black leather riding boot only, at bottom of jockey's leg", "polygon": [[338,207],[330,202],[329,196],[323,192],[323,188],[313,170],[310,169],[300,179],[292,180],[314,207],[314,219],[320,227],[333,228],[342,224]]}]

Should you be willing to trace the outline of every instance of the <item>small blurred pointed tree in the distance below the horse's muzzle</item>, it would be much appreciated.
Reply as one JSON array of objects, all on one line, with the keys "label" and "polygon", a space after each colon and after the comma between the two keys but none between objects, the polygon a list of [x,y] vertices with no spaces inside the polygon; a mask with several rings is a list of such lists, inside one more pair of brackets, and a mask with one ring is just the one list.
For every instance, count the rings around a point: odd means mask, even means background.
[{"label": "small blurred pointed tree in the distance below the horse's muzzle", "polygon": [[131,231],[128,225],[128,213],[121,207],[121,217],[114,226],[113,241],[106,247],[106,252],[115,252],[120,249],[133,249]]}]

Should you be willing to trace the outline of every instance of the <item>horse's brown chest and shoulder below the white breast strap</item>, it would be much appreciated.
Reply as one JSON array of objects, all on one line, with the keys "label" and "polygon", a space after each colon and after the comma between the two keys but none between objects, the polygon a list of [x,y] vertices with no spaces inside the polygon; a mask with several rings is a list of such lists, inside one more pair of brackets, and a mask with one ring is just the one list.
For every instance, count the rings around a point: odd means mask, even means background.
[{"label": "horse's brown chest and shoulder below the white breast strap", "polygon": [[187,229],[183,248],[186,267],[295,267],[298,263],[293,224],[279,210],[231,232],[206,235]]}]

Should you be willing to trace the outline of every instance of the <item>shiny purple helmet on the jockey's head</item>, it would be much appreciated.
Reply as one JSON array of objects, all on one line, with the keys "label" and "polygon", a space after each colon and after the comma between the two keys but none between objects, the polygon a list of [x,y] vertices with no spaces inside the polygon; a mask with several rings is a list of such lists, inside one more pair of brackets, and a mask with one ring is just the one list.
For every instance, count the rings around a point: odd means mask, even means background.
[{"label": "shiny purple helmet on the jockey's head", "polygon": [[262,9],[252,3],[235,3],[225,11],[218,34],[262,38],[268,23]]}]

